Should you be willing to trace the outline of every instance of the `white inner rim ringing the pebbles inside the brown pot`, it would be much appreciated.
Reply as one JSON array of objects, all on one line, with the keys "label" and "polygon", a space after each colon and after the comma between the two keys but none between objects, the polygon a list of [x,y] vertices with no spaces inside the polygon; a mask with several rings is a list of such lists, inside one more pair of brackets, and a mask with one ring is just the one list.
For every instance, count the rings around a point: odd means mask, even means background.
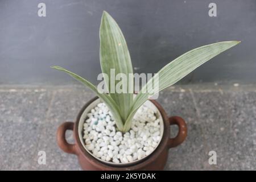
[{"label": "white inner rim ringing the pebbles inside the brown pot", "polygon": [[157,145],[156,147],[154,148],[153,151],[150,152],[150,154],[144,156],[142,159],[137,159],[137,160],[134,160],[133,162],[127,162],[127,163],[113,163],[113,162],[107,162],[105,160],[102,160],[101,158],[98,158],[97,156],[93,155],[91,151],[89,151],[85,146],[85,142],[84,142],[84,138],[83,138],[83,131],[84,131],[84,123],[85,123],[85,119],[87,118],[87,114],[90,112],[91,109],[93,109],[94,107],[97,106],[98,103],[100,102],[103,102],[100,98],[97,98],[96,100],[92,101],[88,107],[85,108],[85,110],[82,112],[82,115],[80,117],[80,120],[79,120],[79,128],[78,128],[78,132],[79,132],[79,139],[80,139],[80,142],[82,143],[82,146],[85,148],[85,150],[90,154],[92,155],[94,158],[96,158],[97,160],[100,160],[100,162],[102,163],[105,163],[105,164],[109,164],[109,165],[112,165],[112,166],[131,166],[133,164],[137,164],[139,162],[141,162],[142,160],[144,160],[144,158],[148,158],[152,152],[154,152],[156,150],[156,148],[159,146],[159,143],[161,142],[162,140],[162,137],[163,137],[163,130],[164,130],[164,122],[163,122],[163,117],[160,113],[160,111],[158,110],[158,107],[156,107],[152,102],[150,101],[146,101],[144,106],[148,107],[148,108],[151,108],[153,110],[156,110],[156,117],[159,119],[159,131],[160,131],[160,140],[157,142]]}]

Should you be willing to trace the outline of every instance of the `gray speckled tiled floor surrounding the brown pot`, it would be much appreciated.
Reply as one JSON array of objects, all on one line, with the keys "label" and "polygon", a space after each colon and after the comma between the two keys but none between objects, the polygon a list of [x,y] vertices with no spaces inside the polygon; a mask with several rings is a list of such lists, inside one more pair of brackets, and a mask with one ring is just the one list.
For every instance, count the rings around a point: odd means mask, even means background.
[{"label": "gray speckled tiled floor surrounding the brown pot", "polygon": [[[57,147],[56,130],[74,121],[94,96],[77,85],[0,86],[0,169],[80,170],[75,155]],[[158,101],[188,125],[183,144],[169,151],[166,170],[256,170],[256,87],[187,85],[168,88]],[[172,127],[172,136],[176,127]],[[72,142],[72,133],[67,133]],[[39,165],[38,152],[47,164]],[[209,151],[217,165],[209,165]]]}]

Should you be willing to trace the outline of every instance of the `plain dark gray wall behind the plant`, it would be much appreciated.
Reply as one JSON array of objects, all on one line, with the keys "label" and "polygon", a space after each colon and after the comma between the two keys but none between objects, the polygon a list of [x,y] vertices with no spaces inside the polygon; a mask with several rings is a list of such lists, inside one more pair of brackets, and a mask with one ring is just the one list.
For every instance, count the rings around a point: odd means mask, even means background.
[{"label": "plain dark gray wall behind the plant", "polygon": [[[46,3],[46,17],[37,15],[39,2]],[[210,2],[217,17],[208,16]],[[121,27],[135,72],[155,73],[204,44],[241,40],[181,82],[256,83],[255,0],[1,0],[0,84],[72,82],[51,65],[96,82],[102,10]]]}]

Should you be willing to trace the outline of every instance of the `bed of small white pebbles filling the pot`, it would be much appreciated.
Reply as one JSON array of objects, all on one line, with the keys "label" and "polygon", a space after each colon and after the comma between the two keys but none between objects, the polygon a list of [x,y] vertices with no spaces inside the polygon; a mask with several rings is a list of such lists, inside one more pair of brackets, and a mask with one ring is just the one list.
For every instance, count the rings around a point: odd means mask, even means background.
[{"label": "bed of small white pebbles filling the pot", "polygon": [[160,141],[160,120],[156,109],[142,105],[134,115],[131,129],[117,131],[112,113],[104,103],[90,110],[83,123],[83,139],[88,151],[106,162],[128,163],[143,159]]}]

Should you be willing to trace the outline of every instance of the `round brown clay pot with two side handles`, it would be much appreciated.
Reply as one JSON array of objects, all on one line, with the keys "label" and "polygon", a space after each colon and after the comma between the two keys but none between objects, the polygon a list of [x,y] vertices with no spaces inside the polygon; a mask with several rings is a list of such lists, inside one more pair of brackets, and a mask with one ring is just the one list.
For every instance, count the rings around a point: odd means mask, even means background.
[{"label": "round brown clay pot with two side handles", "polygon": [[[181,144],[187,137],[187,125],[185,121],[182,118],[176,116],[170,118],[167,117],[163,107],[160,106],[155,100],[150,100],[160,111],[164,122],[163,138],[159,146],[155,149],[154,152],[152,152],[150,156],[137,164],[117,167],[102,163],[90,155],[89,152],[86,151],[82,146],[82,143],[79,139],[78,130],[82,113],[86,107],[88,107],[97,98],[98,97],[93,98],[87,104],[85,104],[84,107],[82,107],[75,123],[65,122],[57,129],[57,144],[64,152],[77,155],[80,166],[84,170],[162,170],[167,162],[168,150]],[[179,133],[175,138],[170,138],[170,125],[177,125],[179,127]],[[65,139],[65,131],[67,130],[73,130],[75,144],[69,144]]]}]

